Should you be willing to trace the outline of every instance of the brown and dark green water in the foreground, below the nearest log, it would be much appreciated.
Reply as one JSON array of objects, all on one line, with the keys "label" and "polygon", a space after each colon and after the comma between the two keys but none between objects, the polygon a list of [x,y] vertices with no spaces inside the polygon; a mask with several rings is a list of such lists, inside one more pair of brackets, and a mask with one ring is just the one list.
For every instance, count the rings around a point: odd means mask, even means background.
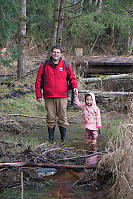
[{"label": "brown and dark green water in the foreground, below the nearest log", "polygon": [[[46,177],[47,184],[36,183],[30,186],[5,190],[1,199],[96,199],[96,191],[86,191],[82,186],[72,185],[83,173],[71,170],[60,171],[54,176]],[[102,198],[104,199],[104,198]]]}]

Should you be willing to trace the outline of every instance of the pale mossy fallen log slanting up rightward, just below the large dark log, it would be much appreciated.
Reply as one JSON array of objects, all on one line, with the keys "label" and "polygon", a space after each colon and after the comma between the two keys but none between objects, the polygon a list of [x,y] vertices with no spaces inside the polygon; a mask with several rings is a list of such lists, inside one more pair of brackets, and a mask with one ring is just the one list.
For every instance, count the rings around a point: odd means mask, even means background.
[{"label": "pale mossy fallen log slanting up rightward, just below the large dark log", "polygon": [[98,82],[98,81],[105,81],[105,80],[113,80],[113,79],[129,79],[133,78],[133,74],[121,74],[121,75],[108,75],[108,76],[100,76],[100,77],[93,77],[93,78],[82,78],[82,81],[85,84],[92,83],[92,82]]}]

